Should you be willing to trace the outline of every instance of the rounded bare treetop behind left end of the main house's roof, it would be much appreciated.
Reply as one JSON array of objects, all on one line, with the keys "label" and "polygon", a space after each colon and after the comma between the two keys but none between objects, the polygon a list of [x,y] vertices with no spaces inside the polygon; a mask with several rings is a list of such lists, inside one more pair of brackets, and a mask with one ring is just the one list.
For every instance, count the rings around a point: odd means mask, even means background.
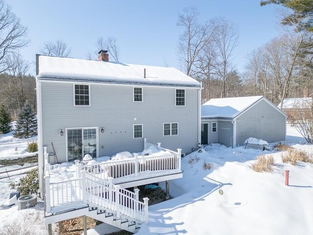
[{"label": "rounded bare treetop behind left end of the main house's roof", "polygon": [[67,43],[62,40],[55,42],[45,42],[44,47],[40,48],[40,53],[43,55],[58,56],[58,57],[69,57],[71,48],[68,47]]}]

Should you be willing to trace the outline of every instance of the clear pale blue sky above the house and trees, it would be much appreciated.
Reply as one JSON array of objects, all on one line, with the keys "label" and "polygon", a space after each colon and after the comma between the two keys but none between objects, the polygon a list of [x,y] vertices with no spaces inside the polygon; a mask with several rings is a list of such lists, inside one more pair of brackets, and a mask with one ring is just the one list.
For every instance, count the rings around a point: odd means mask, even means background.
[{"label": "clear pale blue sky above the house and trees", "polygon": [[[182,28],[176,23],[184,7],[194,6],[200,21],[224,16],[239,26],[240,46],[234,64],[244,71],[246,55],[279,35],[275,6],[260,0],[7,0],[12,11],[28,27],[31,43],[21,49],[24,59],[46,41],[62,39],[72,48],[71,57],[87,58],[99,36],[117,39],[120,62],[179,69],[177,42]],[[34,73],[35,65],[31,73]]]}]

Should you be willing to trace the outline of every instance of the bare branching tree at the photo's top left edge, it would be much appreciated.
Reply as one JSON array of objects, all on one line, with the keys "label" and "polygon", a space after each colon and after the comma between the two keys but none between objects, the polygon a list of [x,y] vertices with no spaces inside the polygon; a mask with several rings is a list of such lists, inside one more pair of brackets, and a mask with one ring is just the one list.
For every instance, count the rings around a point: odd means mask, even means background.
[{"label": "bare branching tree at the photo's top left edge", "polygon": [[0,0],[0,73],[10,69],[8,56],[18,53],[18,49],[27,46],[27,28],[11,11],[11,7]]}]

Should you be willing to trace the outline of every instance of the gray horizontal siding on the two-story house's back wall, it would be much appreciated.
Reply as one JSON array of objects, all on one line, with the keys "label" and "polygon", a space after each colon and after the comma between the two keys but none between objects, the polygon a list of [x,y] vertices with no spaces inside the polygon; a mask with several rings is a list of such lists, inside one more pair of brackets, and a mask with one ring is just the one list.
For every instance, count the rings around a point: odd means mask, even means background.
[{"label": "gray horizontal siding on the two-story house's back wall", "polygon": [[[91,84],[89,107],[73,106],[73,84],[42,81],[43,146],[66,161],[66,136],[59,130],[99,128],[99,156],[138,152],[143,139],[133,139],[133,124],[143,124],[148,142],[182,152],[198,144],[198,89],[186,88],[186,106],[175,106],[174,87],[143,87],[143,102],[133,102],[132,85]],[[134,117],[136,120],[134,121]],[[178,122],[179,135],[163,137],[163,122]],[[105,133],[100,133],[100,128]]]}]

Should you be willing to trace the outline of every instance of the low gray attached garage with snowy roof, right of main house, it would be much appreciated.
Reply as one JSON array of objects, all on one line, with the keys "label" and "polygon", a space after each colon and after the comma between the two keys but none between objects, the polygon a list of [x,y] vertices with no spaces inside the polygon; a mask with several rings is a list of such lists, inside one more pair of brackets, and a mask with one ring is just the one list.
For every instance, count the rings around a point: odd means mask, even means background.
[{"label": "low gray attached garage with snowy roof, right of main house", "polygon": [[201,105],[201,143],[243,145],[249,137],[286,140],[286,114],[264,96],[210,99]]}]

